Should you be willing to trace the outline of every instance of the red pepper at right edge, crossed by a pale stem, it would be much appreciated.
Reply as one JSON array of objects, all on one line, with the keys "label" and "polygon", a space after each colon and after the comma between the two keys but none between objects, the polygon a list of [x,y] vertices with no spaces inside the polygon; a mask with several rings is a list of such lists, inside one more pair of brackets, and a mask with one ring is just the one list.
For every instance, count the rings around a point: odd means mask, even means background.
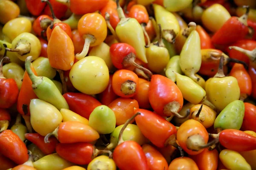
[{"label": "red pepper at right edge, crossed by a pale stem", "polygon": [[[239,41],[231,44],[230,46],[240,47],[245,50],[253,50],[254,48],[256,48],[256,41],[239,40]],[[239,59],[240,61],[244,61],[247,65],[249,65],[250,59],[245,54],[241,53],[240,51],[236,51],[234,49],[231,49],[231,50],[227,49],[227,52],[228,52],[228,56],[230,58]]]}]

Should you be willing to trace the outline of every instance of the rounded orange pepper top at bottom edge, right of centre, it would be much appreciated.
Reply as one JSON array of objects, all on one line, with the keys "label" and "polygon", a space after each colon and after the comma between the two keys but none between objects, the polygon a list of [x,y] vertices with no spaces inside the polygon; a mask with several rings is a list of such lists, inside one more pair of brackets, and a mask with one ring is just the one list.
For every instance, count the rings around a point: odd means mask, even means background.
[{"label": "rounded orange pepper top at bottom edge, right of centre", "polygon": [[199,168],[193,159],[189,157],[180,157],[171,162],[168,170],[199,170]]}]

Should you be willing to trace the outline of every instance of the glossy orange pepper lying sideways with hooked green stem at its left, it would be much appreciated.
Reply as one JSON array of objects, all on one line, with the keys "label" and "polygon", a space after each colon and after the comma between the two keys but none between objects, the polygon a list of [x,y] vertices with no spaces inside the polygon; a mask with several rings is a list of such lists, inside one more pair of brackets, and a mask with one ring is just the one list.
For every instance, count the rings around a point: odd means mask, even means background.
[{"label": "glossy orange pepper lying sideways with hooked green stem at its left", "polygon": [[52,133],[44,137],[44,142],[49,143],[49,137],[55,136],[61,143],[93,142],[99,139],[99,133],[89,125],[81,122],[62,122]]}]

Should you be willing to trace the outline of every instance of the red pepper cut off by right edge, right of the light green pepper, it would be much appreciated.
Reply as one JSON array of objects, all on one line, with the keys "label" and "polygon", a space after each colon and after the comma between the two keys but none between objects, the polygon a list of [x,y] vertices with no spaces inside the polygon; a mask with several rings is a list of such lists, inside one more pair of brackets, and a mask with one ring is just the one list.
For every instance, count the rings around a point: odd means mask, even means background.
[{"label": "red pepper cut off by right edge, right of the light green pepper", "polygon": [[245,111],[241,130],[252,130],[256,132],[256,106],[247,102],[244,103],[244,106]]}]

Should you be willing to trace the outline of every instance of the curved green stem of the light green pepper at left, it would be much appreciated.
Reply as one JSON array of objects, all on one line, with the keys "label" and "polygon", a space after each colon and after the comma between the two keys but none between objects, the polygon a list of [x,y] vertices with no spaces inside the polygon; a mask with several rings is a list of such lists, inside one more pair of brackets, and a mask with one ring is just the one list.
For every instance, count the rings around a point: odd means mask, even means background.
[{"label": "curved green stem of the light green pepper at left", "polygon": [[32,81],[32,88],[35,89],[35,88],[37,88],[37,86],[39,84],[41,84],[42,78],[37,77],[33,73],[32,69],[31,69],[31,61],[32,61],[32,56],[29,56],[29,57],[26,58],[26,60],[25,60],[25,68],[26,68],[26,71],[27,71],[27,73],[29,75],[29,78]]}]

